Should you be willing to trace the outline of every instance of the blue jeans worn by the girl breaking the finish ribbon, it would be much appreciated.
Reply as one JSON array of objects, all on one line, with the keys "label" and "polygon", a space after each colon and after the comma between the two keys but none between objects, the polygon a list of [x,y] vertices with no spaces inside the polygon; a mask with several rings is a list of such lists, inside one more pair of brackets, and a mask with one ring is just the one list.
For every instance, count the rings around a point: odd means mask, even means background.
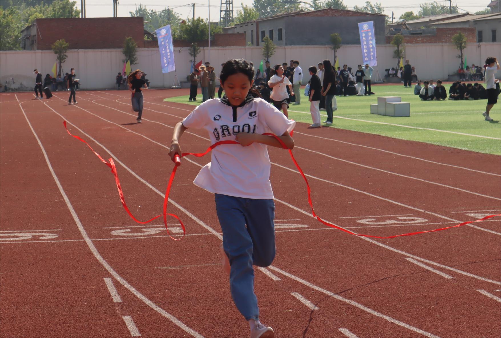
[{"label": "blue jeans worn by the girl breaking the finish ribbon", "polygon": [[275,258],[275,203],[221,194],[214,199],[223,249],[231,266],[231,297],[246,320],[259,320],[253,265],[266,267]]}]

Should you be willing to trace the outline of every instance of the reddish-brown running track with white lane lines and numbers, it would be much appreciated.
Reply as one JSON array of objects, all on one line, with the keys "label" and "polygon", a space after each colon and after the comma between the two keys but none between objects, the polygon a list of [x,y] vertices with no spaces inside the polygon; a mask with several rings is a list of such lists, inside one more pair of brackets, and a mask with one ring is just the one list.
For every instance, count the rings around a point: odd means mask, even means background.
[{"label": "reddish-brown running track with white lane lines and numbers", "polygon": [[[0,96],[0,336],[248,335],[219,265],[213,196],[191,183],[209,157],[183,159],[176,176],[169,211],[187,227],[176,242],[161,221],[128,218],[108,167],[62,127],[114,158],[131,211],[147,219],[161,213],[172,127],[192,109],[162,99],[186,93],[145,93],[140,125],[127,92],[78,92],[77,106],[66,93]],[[205,150],[207,135],[188,132],[182,150]],[[429,230],[501,208],[498,156],[306,124],[295,141],[317,213],[352,231]],[[277,336],[501,334],[499,218],[351,236],[309,216],[287,152],[270,157],[278,254],[256,270],[256,292]]]}]

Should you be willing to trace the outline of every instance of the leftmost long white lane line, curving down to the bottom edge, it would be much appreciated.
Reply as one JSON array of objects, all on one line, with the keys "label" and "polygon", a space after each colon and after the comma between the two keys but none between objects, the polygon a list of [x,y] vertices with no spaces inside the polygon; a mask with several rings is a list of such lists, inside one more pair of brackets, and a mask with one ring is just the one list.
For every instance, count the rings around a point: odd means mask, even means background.
[{"label": "leftmost long white lane line, curving down to the bottom edge", "polygon": [[[44,103],[44,104],[47,107],[49,107],[46,103]],[[141,299],[148,306],[150,306],[151,308],[153,308],[155,311],[157,311],[158,313],[160,313],[162,316],[164,316],[164,317],[168,318],[169,320],[171,320],[174,324],[176,324],[177,326],[179,326],[181,329],[185,330],[187,333],[191,334],[192,336],[194,336],[194,337],[202,337],[201,334],[199,334],[195,330],[193,330],[190,327],[188,327],[187,325],[185,325],[179,319],[177,319],[176,317],[174,317],[172,314],[168,313],[167,311],[165,311],[161,307],[157,306],[151,300],[149,300],[148,298],[146,298],[142,293],[140,293],[138,290],[136,290],[124,278],[122,278],[122,276],[120,276],[113,269],[113,267],[111,267],[110,264],[108,264],[108,262],[103,258],[103,256],[101,256],[101,254],[99,253],[98,249],[96,248],[96,246],[94,245],[94,243],[92,243],[92,240],[90,239],[89,235],[85,231],[85,228],[84,228],[82,222],[80,221],[80,218],[78,217],[77,213],[75,212],[75,209],[73,208],[73,205],[71,204],[68,196],[66,195],[66,192],[64,191],[63,186],[61,185],[61,182],[59,181],[59,178],[57,177],[56,173],[54,172],[52,164],[49,161],[49,157],[47,156],[47,152],[45,151],[44,146],[42,145],[42,141],[40,141],[40,138],[38,137],[37,133],[33,129],[33,126],[30,123],[30,120],[28,119],[28,116],[26,115],[25,110],[23,109],[23,106],[21,105],[21,103],[19,104],[19,107],[21,108],[21,111],[23,112],[23,115],[25,116],[26,122],[28,123],[28,126],[32,130],[33,135],[37,139],[37,142],[38,142],[38,144],[40,146],[40,149],[42,150],[42,153],[44,154],[45,161],[47,162],[47,166],[49,167],[49,170],[50,170],[50,172],[52,174],[52,177],[54,178],[54,181],[56,182],[56,185],[58,186],[59,192],[63,196],[63,199],[65,200],[66,205],[68,206],[68,209],[70,210],[70,213],[71,213],[71,215],[73,217],[73,220],[75,221],[78,229],[80,230],[80,233],[81,233],[82,237],[84,238],[85,242],[89,246],[89,249],[94,254],[94,256],[96,257],[96,259],[103,265],[103,267],[106,270],[108,270],[108,272],[113,277],[115,277],[116,280],[118,280],[123,286],[125,286],[129,291],[131,291],[136,297],[138,297],[139,299]],[[51,107],[49,107],[49,108],[52,111],[54,111],[54,113],[58,114],[59,116],[61,116],[63,118],[63,116],[60,115],[59,113],[57,113],[54,109],[52,109]]]}]

